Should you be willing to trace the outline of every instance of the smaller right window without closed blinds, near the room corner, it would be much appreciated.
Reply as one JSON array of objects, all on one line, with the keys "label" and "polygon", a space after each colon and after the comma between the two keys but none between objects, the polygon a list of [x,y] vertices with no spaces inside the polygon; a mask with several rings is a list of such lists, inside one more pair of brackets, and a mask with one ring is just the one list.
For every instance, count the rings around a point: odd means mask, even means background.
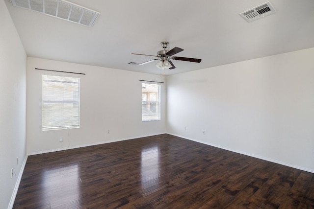
[{"label": "smaller right window without closed blinds, near the room corner", "polygon": [[160,84],[142,83],[142,121],[160,120]]}]

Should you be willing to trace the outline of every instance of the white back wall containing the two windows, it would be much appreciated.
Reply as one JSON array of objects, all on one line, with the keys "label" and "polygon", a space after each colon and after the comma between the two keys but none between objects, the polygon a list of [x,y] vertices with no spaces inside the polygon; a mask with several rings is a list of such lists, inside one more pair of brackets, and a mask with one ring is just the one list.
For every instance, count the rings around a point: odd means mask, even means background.
[{"label": "white back wall containing the two windows", "polygon": [[[80,128],[42,131],[42,74],[74,75],[39,69],[86,73],[80,75]],[[161,81],[159,75],[108,69],[38,58],[27,58],[27,153],[37,154],[165,133],[165,84],[161,84],[161,120],[142,122],[141,80]],[[110,133],[107,133],[110,130]],[[59,142],[63,137],[63,142]]]}]

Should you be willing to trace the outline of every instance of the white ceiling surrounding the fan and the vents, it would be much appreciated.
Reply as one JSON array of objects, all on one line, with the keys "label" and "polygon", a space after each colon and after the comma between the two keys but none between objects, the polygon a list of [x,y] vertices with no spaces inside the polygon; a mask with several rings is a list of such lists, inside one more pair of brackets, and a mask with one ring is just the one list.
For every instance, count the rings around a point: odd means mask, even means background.
[{"label": "white ceiling surrounding the fan and the vents", "polygon": [[[69,0],[100,12],[92,27],[71,23],[5,0],[31,57],[159,74],[154,57],[168,41],[176,56],[166,75],[314,47],[314,0],[270,0],[277,13],[247,23],[239,13],[266,0]],[[3,31],[1,31],[3,32]]]}]

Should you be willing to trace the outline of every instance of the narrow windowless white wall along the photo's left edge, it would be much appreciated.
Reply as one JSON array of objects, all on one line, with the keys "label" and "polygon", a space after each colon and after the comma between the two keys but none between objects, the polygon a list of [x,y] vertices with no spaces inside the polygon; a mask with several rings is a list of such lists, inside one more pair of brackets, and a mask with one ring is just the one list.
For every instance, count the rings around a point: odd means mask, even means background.
[{"label": "narrow windowless white wall along the photo's left edge", "polygon": [[3,0],[0,20],[0,209],[5,209],[11,197],[14,201],[26,160],[26,52]]}]

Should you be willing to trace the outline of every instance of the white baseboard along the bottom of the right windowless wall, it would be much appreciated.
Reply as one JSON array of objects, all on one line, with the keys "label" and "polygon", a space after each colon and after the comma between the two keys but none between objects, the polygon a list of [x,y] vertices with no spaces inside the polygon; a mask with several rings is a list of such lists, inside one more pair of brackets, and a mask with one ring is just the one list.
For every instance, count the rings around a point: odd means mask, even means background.
[{"label": "white baseboard along the bottom of the right windowless wall", "polygon": [[187,137],[180,136],[180,135],[177,135],[177,134],[171,134],[171,133],[167,133],[167,134],[170,134],[170,135],[173,135],[173,136],[176,136],[176,137],[181,137],[183,139],[196,141],[196,142],[199,142],[199,143],[202,143],[202,144],[206,144],[206,145],[209,145],[209,146],[221,148],[221,149],[228,150],[228,151],[231,151],[231,152],[239,153],[239,154],[242,154],[242,155],[250,156],[250,157],[253,157],[253,158],[258,158],[258,159],[261,159],[261,160],[264,160],[264,161],[277,163],[277,164],[285,165],[285,166],[288,166],[288,167],[296,168],[296,169],[299,169],[299,170],[304,170],[304,171],[307,171],[307,172],[310,172],[310,173],[314,173],[314,170],[310,169],[310,168],[306,168],[306,167],[302,167],[302,166],[298,166],[298,165],[294,165],[294,164],[290,164],[290,163],[277,161],[277,160],[274,160],[274,159],[266,158],[266,157],[255,155],[255,154],[252,154],[252,153],[246,153],[246,152],[242,152],[242,151],[239,151],[239,150],[230,149],[228,147],[224,147],[224,146],[220,146],[220,145],[217,145],[217,144],[208,143],[208,142],[197,140],[197,139],[187,138]]}]

